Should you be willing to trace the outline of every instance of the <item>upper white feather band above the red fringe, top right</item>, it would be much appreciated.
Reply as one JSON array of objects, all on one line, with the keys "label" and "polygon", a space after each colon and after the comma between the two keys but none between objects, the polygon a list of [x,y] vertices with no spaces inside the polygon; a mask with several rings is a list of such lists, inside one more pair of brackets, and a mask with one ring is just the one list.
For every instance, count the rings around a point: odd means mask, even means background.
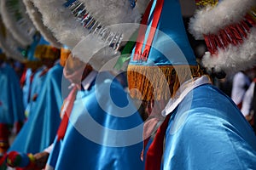
[{"label": "upper white feather band above the red fringe, top right", "polygon": [[255,0],[224,0],[214,8],[207,6],[190,19],[189,31],[196,39],[203,39],[204,34],[217,34],[225,26],[241,21],[255,5]]}]

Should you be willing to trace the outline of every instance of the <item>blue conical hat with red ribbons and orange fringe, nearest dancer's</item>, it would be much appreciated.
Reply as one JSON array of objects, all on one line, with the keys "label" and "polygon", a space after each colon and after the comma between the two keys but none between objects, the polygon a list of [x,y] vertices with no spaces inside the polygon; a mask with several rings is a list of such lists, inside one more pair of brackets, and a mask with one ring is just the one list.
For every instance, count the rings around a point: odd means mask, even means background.
[{"label": "blue conical hat with red ribbons and orange fringe, nearest dancer's", "polygon": [[[156,31],[150,26],[146,28],[154,32],[150,44],[143,47],[139,43],[149,43],[149,34],[144,32],[143,39],[138,36],[128,65],[131,97],[145,101],[168,101],[175,97],[180,84],[193,77],[201,77],[202,71],[189,44],[178,7],[177,1],[166,3]],[[153,22],[153,18],[149,16],[148,22]]]}]

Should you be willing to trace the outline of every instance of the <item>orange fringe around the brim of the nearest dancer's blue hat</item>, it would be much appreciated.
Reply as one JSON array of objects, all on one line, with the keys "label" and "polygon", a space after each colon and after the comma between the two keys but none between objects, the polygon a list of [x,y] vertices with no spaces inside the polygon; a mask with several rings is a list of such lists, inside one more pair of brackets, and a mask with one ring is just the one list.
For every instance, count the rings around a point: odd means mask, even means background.
[{"label": "orange fringe around the brim of the nearest dancer's blue hat", "polygon": [[129,65],[127,70],[131,97],[146,101],[168,100],[176,94],[180,83],[202,75],[199,66],[191,65]]}]

